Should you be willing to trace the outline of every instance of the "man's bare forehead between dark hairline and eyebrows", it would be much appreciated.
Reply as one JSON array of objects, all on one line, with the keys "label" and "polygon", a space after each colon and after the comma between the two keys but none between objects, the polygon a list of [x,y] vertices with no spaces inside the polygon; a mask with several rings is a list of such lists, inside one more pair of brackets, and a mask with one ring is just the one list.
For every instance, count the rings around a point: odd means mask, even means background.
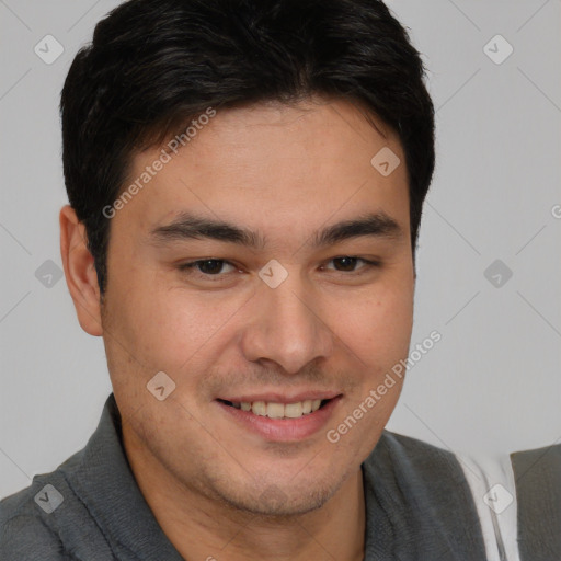
[{"label": "man's bare forehead between dark hairline and eyebrows", "polygon": [[[313,216],[325,222],[382,210],[405,229],[402,148],[393,130],[369,118],[348,102],[321,99],[218,111],[191,126],[176,153],[168,141],[135,156],[127,184],[153,168],[162,149],[171,158],[115,218],[151,230],[194,211],[288,234],[287,225]],[[387,176],[373,165],[380,150],[402,162]]]}]

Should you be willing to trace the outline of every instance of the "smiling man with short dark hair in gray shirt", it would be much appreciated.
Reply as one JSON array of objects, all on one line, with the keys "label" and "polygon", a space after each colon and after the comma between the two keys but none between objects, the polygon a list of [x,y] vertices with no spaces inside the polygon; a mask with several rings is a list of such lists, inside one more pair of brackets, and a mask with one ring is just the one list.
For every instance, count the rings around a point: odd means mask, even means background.
[{"label": "smiling man with short dark hair in gray shirt", "polygon": [[[130,0],[61,116],[65,274],[114,392],[83,450],[1,503],[2,560],[517,549],[478,466],[385,431],[434,111],[382,2]],[[559,458],[513,456],[524,561],[560,551],[534,516],[559,519]]]}]

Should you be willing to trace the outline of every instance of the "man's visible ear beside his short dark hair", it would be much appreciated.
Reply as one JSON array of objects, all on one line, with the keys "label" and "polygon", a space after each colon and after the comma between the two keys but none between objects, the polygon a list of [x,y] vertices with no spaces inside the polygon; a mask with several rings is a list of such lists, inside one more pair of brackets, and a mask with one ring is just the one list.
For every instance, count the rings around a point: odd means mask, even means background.
[{"label": "man's visible ear beside his short dark hair", "polygon": [[70,205],[60,209],[59,222],[60,254],[78,321],[87,333],[100,336],[103,334],[100,287],[93,256],[87,245],[85,227]]}]

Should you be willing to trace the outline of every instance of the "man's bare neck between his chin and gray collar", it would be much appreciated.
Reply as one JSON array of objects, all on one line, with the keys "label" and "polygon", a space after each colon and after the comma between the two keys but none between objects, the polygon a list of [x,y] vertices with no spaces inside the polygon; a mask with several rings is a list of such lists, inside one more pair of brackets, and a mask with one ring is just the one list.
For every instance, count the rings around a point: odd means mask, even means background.
[{"label": "man's bare neck between his chin and gray collar", "polygon": [[296,516],[256,515],[176,481],[134,436],[128,461],[163,533],[184,559],[208,561],[363,561],[365,503],[358,469],[320,508]]}]

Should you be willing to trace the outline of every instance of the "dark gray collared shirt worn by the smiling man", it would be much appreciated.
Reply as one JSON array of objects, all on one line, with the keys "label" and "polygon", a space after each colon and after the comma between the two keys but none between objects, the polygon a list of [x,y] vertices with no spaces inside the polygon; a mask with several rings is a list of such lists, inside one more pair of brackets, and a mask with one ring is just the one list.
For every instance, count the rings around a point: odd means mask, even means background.
[{"label": "dark gray collared shirt worn by the smiling man", "polygon": [[[512,455],[524,474],[516,485],[520,561],[561,559],[561,446],[539,453]],[[454,454],[385,431],[362,470],[365,561],[482,561],[499,547],[483,539]],[[227,559],[226,551],[208,556]],[[135,481],[113,394],[82,450],[0,502],[1,561],[182,559]]]}]

